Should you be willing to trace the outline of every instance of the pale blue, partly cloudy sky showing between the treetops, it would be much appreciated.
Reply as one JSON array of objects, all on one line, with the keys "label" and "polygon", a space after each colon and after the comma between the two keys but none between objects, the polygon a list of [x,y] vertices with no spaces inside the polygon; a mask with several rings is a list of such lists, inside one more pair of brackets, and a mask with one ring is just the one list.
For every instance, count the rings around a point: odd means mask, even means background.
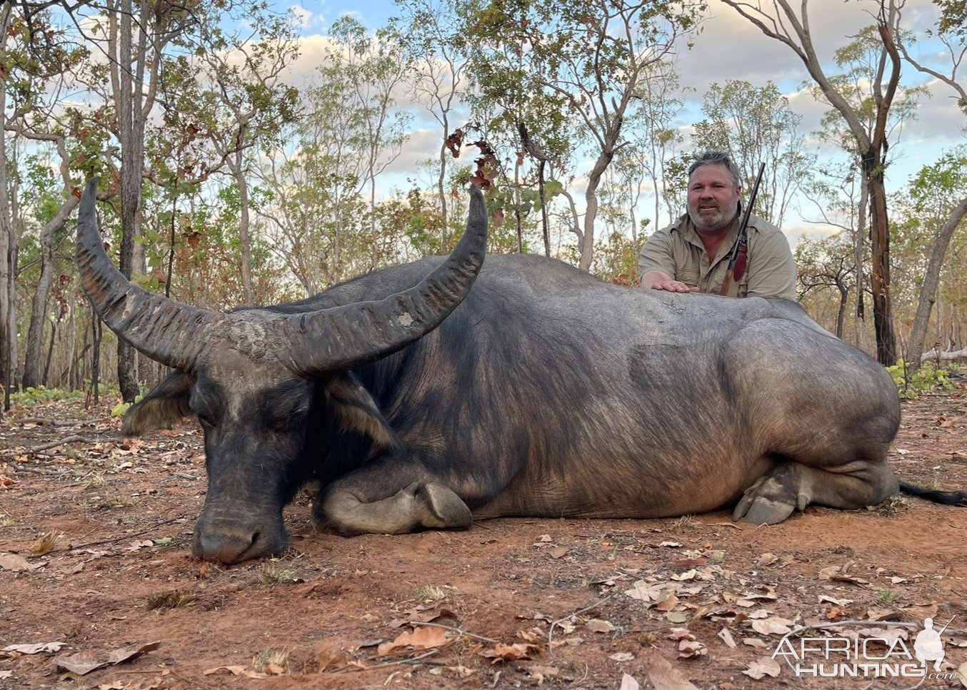
[{"label": "pale blue, partly cloudy sky showing between the treetops", "polygon": [[[817,52],[821,56],[832,57],[835,48],[848,43],[851,35],[872,23],[867,14],[870,7],[869,0],[813,0],[809,4],[810,28]],[[317,50],[325,41],[327,28],[341,14],[353,14],[370,29],[385,25],[388,17],[395,14],[395,7],[389,0],[357,3],[299,0],[296,3],[279,2],[278,8],[293,8],[303,17],[306,42],[299,71],[304,73],[310,72],[317,64]],[[709,8],[709,17],[694,47],[679,51],[681,81],[697,89],[691,112],[698,112],[701,95],[712,82],[745,79],[755,86],[764,86],[772,81],[787,96],[792,109],[802,115],[801,131],[806,133],[818,129],[819,120],[828,108],[814,101],[808,91],[802,88],[809,77],[792,50],[763,36],[746,19],[718,0],[709,0]],[[935,8],[930,0],[907,0],[904,24],[923,37],[923,42],[913,49],[915,54],[924,61],[934,64],[939,61],[943,65],[944,56],[938,55],[940,46],[926,41],[923,34],[925,29],[933,25],[934,18]],[[828,67],[828,73],[835,71],[835,66]],[[917,170],[936,160],[942,151],[967,141],[962,131],[967,119],[951,98],[950,88],[935,80],[931,83],[909,66],[904,66],[903,73],[904,78],[911,82],[926,84],[932,98],[923,100],[918,119],[904,127],[900,140],[891,149],[893,164],[888,177],[890,190],[904,186]],[[700,118],[692,118],[693,121],[697,119]],[[429,123],[422,123],[418,117],[403,155],[394,164],[396,174],[391,179],[401,184],[407,176],[415,177],[416,161],[435,155],[438,146],[438,129]],[[648,208],[650,202],[646,201],[643,209]],[[807,216],[806,210],[802,215],[794,211],[786,217],[783,229],[793,239],[800,232],[809,231],[806,218],[801,216]],[[660,222],[662,219],[659,218]]]}]

